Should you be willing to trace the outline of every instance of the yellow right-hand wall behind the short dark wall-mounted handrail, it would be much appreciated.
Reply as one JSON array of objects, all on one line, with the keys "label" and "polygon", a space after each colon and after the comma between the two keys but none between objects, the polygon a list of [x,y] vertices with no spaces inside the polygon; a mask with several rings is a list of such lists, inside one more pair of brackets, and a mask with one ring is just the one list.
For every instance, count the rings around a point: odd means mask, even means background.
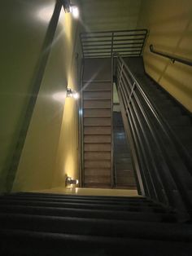
[{"label": "yellow right-hand wall behind the short dark wall-mounted handrail", "polygon": [[137,24],[138,28],[150,29],[144,52],[146,73],[192,111],[192,67],[172,64],[171,60],[149,51],[164,51],[192,60],[192,1],[145,0]]}]

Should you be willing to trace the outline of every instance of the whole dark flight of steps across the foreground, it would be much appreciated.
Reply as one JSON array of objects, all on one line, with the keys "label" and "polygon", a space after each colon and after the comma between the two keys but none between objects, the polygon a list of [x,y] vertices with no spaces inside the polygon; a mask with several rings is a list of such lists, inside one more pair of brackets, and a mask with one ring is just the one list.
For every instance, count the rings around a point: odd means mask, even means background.
[{"label": "whole dark flight of steps across the foreground", "polygon": [[142,197],[0,197],[1,255],[191,255],[192,227]]}]

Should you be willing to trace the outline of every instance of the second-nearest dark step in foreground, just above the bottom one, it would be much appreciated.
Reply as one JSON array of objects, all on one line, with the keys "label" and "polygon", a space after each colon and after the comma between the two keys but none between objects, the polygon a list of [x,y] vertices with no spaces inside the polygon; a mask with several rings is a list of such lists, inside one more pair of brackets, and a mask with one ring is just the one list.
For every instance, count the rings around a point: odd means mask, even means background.
[{"label": "second-nearest dark step in foreground, just above the bottom one", "polygon": [[153,223],[111,219],[0,214],[3,228],[32,232],[70,233],[84,236],[137,237],[163,241],[191,242],[191,227],[177,223]]}]

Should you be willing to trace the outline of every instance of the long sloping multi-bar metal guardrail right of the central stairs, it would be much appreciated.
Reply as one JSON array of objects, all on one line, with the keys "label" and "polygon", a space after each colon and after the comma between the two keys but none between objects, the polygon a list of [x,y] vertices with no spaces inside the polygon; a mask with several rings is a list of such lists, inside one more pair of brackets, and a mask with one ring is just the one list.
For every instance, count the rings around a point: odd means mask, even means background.
[{"label": "long sloping multi-bar metal guardrail right of the central stairs", "polygon": [[120,104],[124,106],[133,137],[145,194],[154,201],[180,210],[188,218],[192,209],[188,188],[188,182],[192,180],[191,161],[186,156],[187,166],[183,155],[175,147],[170,127],[123,58],[116,56]]}]

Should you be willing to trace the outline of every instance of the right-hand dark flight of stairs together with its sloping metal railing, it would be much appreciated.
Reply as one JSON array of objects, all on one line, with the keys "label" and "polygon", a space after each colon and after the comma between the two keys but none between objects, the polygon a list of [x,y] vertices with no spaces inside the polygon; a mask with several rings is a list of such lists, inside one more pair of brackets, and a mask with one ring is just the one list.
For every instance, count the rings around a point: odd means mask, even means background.
[{"label": "right-hand dark flight of stairs together with its sloping metal railing", "polygon": [[145,73],[142,57],[117,55],[116,81],[139,190],[191,216],[191,115]]}]

